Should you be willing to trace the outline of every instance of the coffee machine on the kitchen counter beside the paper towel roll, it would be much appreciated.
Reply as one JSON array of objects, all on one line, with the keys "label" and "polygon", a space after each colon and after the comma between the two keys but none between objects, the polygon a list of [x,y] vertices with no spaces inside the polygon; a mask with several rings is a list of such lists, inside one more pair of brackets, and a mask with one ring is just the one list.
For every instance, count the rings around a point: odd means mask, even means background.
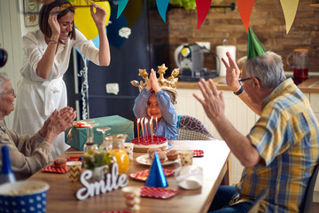
[{"label": "coffee machine on the kitchen counter beside the paper towel roll", "polygon": [[200,78],[214,78],[213,73],[203,67],[204,53],[214,54],[197,43],[185,43],[175,50],[175,64],[180,68],[179,81],[198,82]]}]

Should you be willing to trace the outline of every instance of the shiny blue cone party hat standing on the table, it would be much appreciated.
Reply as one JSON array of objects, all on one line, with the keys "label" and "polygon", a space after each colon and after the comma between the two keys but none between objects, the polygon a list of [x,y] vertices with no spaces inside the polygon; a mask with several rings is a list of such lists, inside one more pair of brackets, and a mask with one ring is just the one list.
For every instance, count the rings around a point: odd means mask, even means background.
[{"label": "shiny blue cone party hat standing on the table", "polygon": [[147,177],[145,185],[151,187],[166,187],[167,179],[164,175],[163,168],[159,161],[159,154],[155,153],[150,174]]}]

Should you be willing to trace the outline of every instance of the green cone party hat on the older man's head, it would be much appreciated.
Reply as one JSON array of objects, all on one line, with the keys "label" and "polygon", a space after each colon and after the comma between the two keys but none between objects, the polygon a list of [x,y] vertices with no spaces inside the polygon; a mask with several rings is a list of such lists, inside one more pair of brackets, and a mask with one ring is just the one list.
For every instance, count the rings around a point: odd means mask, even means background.
[{"label": "green cone party hat on the older man's head", "polygon": [[254,59],[257,56],[262,56],[266,51],[254,35],[253,30],[248,28],[248,45],[247,45],[247,59]]}]

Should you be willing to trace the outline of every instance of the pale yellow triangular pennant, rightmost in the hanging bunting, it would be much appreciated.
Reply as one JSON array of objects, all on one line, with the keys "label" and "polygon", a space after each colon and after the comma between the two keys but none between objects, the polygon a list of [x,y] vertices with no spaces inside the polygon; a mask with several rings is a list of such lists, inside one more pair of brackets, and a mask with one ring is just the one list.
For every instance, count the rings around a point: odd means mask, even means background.
[{"label": "pale yellow triangular pennant, rightmost in the hanging bunting", "polygon": [[292,28],[293,20],[296,17],[299,0],[280,0],[284,12],[284,21],[286,24],[286,34]]}]

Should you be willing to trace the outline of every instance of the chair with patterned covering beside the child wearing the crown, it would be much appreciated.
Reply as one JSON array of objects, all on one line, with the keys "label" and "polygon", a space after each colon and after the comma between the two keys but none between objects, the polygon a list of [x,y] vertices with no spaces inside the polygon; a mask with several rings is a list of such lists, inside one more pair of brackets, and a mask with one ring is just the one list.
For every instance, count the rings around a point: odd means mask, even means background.
[{"label": "chair with patterned covering beside the child wearing the crown", "polygon": [[204,124],[190,115],[178,115],[177,140],[215,139]]}]

